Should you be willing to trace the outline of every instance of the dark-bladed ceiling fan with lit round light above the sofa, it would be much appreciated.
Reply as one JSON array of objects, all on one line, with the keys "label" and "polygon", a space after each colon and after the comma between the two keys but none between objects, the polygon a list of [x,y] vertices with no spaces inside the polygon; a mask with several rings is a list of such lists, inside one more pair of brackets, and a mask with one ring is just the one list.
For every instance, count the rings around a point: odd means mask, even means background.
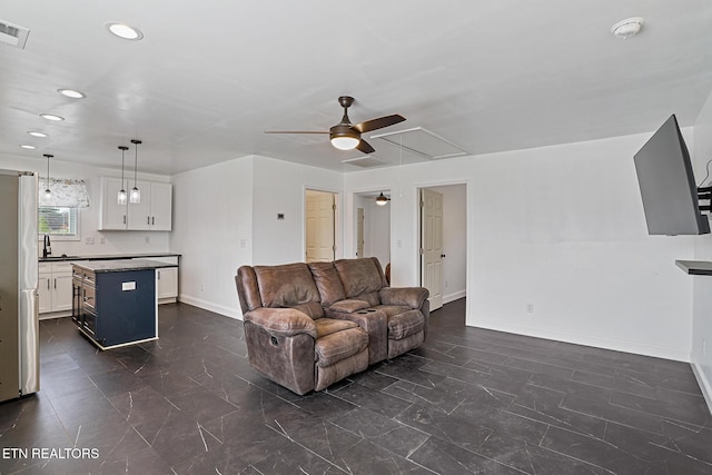
[{"label": "dark-bladed ceiling fan with lit round light above the sofa", "polygon": [[332,145],[339,150],[357,149],[364,154],[373,154],[376,150],[366,140],[362,139],[360,135],[405,120],[405,117],[394,113],[393,116],[384,116],[359,123],[352,123],[348,118],[348,108],[354,103],[354,98],[350,96],[340,96],[338,103],[344,108],[344,117],[340,122],[332,127],[328,131],[271,130],[265,133],[328,133]]}]

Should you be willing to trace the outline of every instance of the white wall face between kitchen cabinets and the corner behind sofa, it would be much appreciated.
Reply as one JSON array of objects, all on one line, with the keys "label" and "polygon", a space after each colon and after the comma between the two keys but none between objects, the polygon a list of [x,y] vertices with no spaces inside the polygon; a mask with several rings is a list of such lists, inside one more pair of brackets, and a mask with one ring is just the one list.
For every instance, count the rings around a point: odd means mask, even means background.
[{"label": "white wall face between kitchen cabinets and the corner behind sofa", "polygon": [[234,318],[241,317],[235,274],[253,264],[253,166],[246,157],[172,177],[179,298]]}]

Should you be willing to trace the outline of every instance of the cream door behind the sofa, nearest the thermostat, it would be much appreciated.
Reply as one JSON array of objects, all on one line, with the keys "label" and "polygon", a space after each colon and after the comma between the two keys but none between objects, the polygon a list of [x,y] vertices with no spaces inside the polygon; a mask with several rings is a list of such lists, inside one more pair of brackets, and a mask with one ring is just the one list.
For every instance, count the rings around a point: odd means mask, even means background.
[{"label": "cream door behind the sofa, nearest the thermostat", "polygon": [[336,198],[334,194],[307,190],[306,261],[329,263],[336,251]]}]

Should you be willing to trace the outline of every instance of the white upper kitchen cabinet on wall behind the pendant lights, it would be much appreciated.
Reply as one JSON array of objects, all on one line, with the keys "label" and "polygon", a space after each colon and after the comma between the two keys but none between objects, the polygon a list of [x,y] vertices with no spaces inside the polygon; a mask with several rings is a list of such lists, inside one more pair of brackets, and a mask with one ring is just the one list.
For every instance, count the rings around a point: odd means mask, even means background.
[{"label": "white upper kitchen cabinet on wall behind the pendant lights", "polygon": [[99,230],[170,231],[172,229],[172,185],[158,181],[139,181],[141,202],[119,205],[117,195],[121,188],[131,191],[132,181],[120,178],[101,178],[101,212]]}]

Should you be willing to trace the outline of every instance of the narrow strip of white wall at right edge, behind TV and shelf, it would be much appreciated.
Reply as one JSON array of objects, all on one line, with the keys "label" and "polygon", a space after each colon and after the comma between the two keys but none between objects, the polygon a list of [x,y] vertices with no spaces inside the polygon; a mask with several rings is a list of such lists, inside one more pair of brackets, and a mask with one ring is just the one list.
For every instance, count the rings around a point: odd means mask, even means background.
[{"label": "narrow strip of white wall at right edge, behind TV and shelf", "polygon": [[[690,142],[688,142],[690,145]],[[712,159],[712,95],[708,98],[694,126],[692,147],[698,184],[704,178],[705,166]],[[710,180],[705,182],[710,185]],[[696,260],[712,260],[712,235],[695,239]],[[694,283],[691,362],[708,406],[712,410],[712,277],[688,276]]]}]

